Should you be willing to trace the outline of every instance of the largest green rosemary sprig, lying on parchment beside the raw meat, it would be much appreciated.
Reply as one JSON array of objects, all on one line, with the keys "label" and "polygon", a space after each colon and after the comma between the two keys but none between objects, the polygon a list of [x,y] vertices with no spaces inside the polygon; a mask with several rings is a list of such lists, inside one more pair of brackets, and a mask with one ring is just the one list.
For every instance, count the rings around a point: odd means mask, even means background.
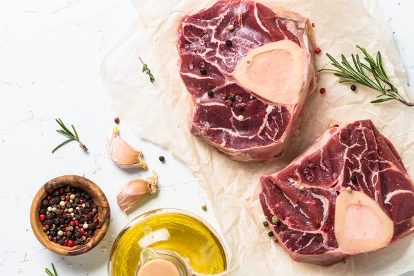
[{"label": "largest green rosemary sprig, lying on parchment beside the raw meat", "polygon": [[[377,90],[380,92],[380,95],[377,96],[378,99],[371,101],[371,103],[383,103],[385,101],[396,100],[404,103],[406,106],[414,106],[414,103],[407,101],[398,93],[397,88],[393,86],[388,75],[386,75],[384,66],[382,66],[381,52],[378,51],[376,59],[373,59],[364,48],[360,46],[357,46],[357,48],[364,53],[364,60],[368,62],[368,65],[362,63],[358,55],[351,55],[353,61],[352,66],[344,55],[342,55],[342,61],[339,62],[326,53],[326,56],[332,61],[331,64],[337,69],[322,69],[318,72],[332,71],[335,72],[333,75],[344,79],[339,81],[339,83],[359,83],[362,86]],[[372,77],[368,77],[366,72],[370,72]]]}]

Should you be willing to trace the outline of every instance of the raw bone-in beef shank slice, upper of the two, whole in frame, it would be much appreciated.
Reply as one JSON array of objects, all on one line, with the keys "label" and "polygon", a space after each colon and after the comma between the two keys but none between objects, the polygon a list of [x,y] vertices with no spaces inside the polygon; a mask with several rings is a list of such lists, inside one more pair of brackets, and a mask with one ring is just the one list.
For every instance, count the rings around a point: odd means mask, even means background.
[{"label": "raw bone-in beef shank slice, upper of the two, whole in frame", "polygon": [[218,1],[182,19],[179,72],[190,132],[238,161],[275,160],[316,86],[308,19],[253,1]]}]

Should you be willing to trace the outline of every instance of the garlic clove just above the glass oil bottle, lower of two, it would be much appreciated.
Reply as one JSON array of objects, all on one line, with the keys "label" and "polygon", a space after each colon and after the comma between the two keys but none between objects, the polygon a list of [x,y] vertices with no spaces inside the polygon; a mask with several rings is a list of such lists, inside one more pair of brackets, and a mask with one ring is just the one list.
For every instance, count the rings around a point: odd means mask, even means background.
[{"label": "garlic clove just above the glass oil bottle, lower of two", "polygon": [[150,178],[132,179],[121,188],[117,195],[117,203],[124,213],[147,195],[157,193],[158,175],[156,172],[152,173]]}]

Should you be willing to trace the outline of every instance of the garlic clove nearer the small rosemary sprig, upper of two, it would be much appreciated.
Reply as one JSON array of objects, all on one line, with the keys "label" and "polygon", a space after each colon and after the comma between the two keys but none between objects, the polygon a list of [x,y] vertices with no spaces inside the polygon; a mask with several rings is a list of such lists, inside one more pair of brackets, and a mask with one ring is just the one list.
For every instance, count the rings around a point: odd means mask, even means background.
[{"label": "garlic clove nearer the small rosemary sprig, upper of two", "polygon": [[121,168],[142,168],[146,170],[148,165],[142,158],[142,152],[136,150],[118,134],[118,127],[112,133],[110,141],[106,144],[108,154]]}]

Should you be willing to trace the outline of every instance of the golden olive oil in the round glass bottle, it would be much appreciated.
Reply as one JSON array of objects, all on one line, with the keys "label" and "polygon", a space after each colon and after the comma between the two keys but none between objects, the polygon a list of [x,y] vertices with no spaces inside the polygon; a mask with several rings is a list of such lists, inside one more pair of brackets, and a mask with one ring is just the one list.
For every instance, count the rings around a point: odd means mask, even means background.
[{"label": "golden olive oil in the round glass bottle", "polygon": [[177,253],[202,274],[221,273],[228,264],[213,228],[182,210],[153,210],[132,220],[112,246],[109,275],[135,276],[144,248]]}]

